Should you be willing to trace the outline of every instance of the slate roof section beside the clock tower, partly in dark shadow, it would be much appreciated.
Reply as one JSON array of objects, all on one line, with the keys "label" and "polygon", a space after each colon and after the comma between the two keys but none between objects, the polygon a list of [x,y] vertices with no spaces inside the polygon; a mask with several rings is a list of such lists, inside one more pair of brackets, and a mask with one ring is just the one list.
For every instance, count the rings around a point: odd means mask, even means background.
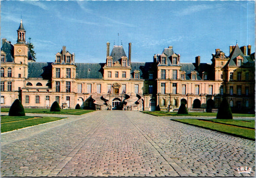
[{"label": "slate roof section beside the clock tower, partly in dark shadow", "polygon": [[51,62],[28,62],[28,78],[51,79]]}]

